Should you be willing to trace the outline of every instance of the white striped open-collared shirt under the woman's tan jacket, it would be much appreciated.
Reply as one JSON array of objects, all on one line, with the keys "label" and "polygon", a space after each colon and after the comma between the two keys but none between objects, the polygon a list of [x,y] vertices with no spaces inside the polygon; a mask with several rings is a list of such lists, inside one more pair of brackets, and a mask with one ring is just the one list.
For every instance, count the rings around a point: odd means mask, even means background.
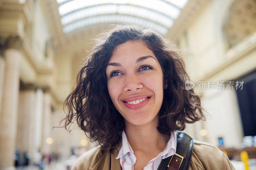
[{"label": "white striped open-collared shirt under the woman's tan jacket", "polygon": [[[171,137],[164,148],[164,151],[160,152],[155,158],[151,159],[143,170],[157,170],[162,159],[172,156],[176,152],[176,134],[172,131]],[[120,164],[123,170],[133,170],[134,164],[136,163],[136,157],[130,146],[126,134],[122,132],[122,147],[119,150],[119,153],[116,159],[120,158]]]}]

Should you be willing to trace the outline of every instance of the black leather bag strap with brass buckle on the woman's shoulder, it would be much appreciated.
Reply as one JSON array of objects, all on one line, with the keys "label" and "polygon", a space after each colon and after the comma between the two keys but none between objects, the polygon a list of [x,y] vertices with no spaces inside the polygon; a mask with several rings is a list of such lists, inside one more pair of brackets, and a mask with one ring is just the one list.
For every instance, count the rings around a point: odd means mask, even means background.
[{"label": "black leather bag strap with brass buckle on the woman's shoulder", "polygon": [[[176,131],[176,137],[176,153],[184,157],[184,159],[181,160],[177,155],[165,158],[161,161],[157,170],[188,170],[191,161],[192,150],[194,147],[194,141],[190,136],[182,131]],[[170,162],[171,159],[172,161]]]}]

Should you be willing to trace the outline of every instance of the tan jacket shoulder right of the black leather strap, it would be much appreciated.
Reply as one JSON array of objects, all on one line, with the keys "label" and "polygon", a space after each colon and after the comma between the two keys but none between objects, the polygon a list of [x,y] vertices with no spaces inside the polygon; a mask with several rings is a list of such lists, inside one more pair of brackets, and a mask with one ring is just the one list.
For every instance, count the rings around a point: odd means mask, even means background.
[{"label": "tan jacket shoulder right of the black leather strap", "polygon": [[192,169],[235,169],[228,157],[216,146],[194,140]]}]

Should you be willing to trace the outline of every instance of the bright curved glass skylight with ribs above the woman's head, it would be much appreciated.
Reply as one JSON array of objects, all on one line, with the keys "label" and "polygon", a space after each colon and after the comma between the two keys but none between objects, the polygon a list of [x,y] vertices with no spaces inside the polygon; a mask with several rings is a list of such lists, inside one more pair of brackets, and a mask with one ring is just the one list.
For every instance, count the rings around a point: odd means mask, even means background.
[{"label": "bright curved glass skylight with ribs above the woman's head", "polygon": [[166,34],[188,0],[57,0],[63,31],[100,23],[131,23]]}]

